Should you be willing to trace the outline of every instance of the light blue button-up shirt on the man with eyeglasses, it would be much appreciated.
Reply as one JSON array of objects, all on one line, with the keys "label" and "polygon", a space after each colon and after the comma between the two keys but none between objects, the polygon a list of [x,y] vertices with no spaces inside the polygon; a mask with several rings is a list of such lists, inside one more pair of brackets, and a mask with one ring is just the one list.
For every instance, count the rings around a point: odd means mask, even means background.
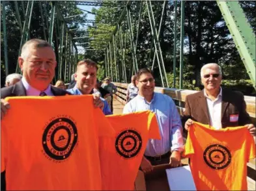
[{"label": "light blue button-up shirt on the man with eyeglasses", "polygon": [[156,114],[161,140],[149,139],[145,151],[146,156],[156,157],[168,151],[183,151],[182,124],[180,115],[171,97],[154,92],[150,103],[141,95],[137,95],[125,106],[123,113],[150,110]]}]

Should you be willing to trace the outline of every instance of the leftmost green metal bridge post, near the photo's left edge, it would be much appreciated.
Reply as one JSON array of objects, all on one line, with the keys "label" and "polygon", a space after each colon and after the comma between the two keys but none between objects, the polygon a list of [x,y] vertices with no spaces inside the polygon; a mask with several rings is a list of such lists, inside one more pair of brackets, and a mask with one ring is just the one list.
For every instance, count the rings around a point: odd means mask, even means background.
[{"label": "leftmost green metal bridge post, near the photo's left edge", "polygon": [[6,2],[3,1],[2,15],[3,15],[3,43],[5,49],[5,75],[8,75],[8,53],[7,53],[7,24],[6,24],[6,12],[5,12]]}]

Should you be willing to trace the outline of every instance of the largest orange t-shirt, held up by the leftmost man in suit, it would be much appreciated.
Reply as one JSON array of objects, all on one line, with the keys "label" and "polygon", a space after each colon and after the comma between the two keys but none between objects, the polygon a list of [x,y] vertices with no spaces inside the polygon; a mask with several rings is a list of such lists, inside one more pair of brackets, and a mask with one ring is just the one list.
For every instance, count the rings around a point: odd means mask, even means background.
[{"label": "largest orange t-shirt, held up by the leftmost man in suit", "polygon": [[92,95],[9,97],[1,121],[7,190],[101,190],[98,140],[115,131]]}]

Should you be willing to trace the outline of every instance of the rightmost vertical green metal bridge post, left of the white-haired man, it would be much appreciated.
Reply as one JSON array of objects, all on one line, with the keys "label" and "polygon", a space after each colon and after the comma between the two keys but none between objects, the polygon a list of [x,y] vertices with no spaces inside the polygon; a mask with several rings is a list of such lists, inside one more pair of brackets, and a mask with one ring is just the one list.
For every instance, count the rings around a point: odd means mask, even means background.
[{"label": "rightmost vertical green metal bridge post, left of the white-haired man", "polygon": [[184,18],[185,18],[185,1],[181,1],[181,18],[180,18],[180,89],[183,88],[183,47],[184,47]]}]

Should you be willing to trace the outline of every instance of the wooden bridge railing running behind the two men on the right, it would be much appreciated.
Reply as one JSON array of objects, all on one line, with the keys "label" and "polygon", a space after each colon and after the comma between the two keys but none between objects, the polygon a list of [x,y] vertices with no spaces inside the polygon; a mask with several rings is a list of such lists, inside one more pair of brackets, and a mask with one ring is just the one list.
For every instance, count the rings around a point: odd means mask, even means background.
[{"label": "wooden bridge railing running behind the two men on the right", "polygon": [[[114,83],[115,86],[117,86],[117,92],[114,95],[115,99],[120,101],[123,105],[126,104],[126,91],[128,84],[125,83]],[[175,88],[162,88],[162,87],[155,87],[155,92],[160,92],[162,94],[167,94],[170,97],[172,97],[174,100],[177,101],[184,101],[186,100],[186,96],[190,94],[195,94],[198,91],[195,90],[178,90]],[[246,111],[249,113],[251,120],[253,121],[253,124],[256,125],[255,121],[255,97],[252,96],[244,96],[244,99],[246,101]],[[184,107],[179,107],[177,105],[178,112],[180,113],[180,116],[183,116],[184,114]],[[254,136],[255,140],[255,136]],[[255,174],[256,174],[256,167],[255,167],[255,159],[249,160],[248,162],[248,180],[249,184],[254,185],[255,187]],[[251,187],[251,186],[250,186]]]}]

